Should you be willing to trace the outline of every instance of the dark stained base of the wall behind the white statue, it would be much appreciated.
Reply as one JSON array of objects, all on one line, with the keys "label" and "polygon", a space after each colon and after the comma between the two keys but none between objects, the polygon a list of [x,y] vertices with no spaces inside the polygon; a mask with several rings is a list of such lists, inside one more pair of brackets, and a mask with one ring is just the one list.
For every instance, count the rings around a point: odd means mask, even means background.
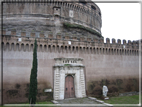
[{"label": "dark stained base of the wall behind the white statue", "polygon": [[115,79],[108,80],[104,79],[101,81],[90,81],[88,82],[88,96],[101,98],[102,87],[105,84],[108,87],[108,96],[118,96],[119,93],[139,91],[139,79]]}]

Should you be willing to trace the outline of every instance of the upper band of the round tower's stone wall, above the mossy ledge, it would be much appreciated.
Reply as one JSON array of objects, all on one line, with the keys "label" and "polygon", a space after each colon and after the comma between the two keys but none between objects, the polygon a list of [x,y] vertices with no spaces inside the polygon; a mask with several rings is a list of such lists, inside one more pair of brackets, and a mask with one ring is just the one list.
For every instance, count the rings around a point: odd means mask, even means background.
[{"label": "upper band of the round tower's stone wall, above the mossy ledge", "polygon": [[[92,9],[94,6],[96,10]],[[96,29],[101,33],[102,20],[99,7],[93,2],[88,1],[86,5],[82,5],[79,1],[3,1],[3,18],[45,18],[49,19],[56,15],[58,9],[59,16],[62,21],[72,20],[74,23],[80,23],[84,26]],[[73,17],[70,17],[69,11],[73,11]],[[54,13],[55,12],[55,13]],[[53,18],[52,18],[53,19]],[[40,19],[41,20],[41,19]]]}]

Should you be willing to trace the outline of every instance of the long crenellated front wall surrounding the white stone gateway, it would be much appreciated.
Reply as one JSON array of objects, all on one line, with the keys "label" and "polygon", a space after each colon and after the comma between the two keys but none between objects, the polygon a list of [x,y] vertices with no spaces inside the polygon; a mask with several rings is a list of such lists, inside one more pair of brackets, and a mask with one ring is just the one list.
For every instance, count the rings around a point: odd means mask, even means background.
[{"label": "long crenellated front wall surrounding the white stone gateway", "polygon": [[[4,32],[3,32],[4,33]],[[3,34],[3,101],[4,103],[28,101],[28,88],[32,67],[35,37]],[[20,39],[21,38],[21,39]],[[71,42],[71,45],[68,43]],[[38,101],[52,99],[53,93],[45,89],[54,87],[54,58],[82,58],[87,95],[100,95],[105,82],[118,92],[138,91],[139,45],[138,41],[109,38],[106,43],[75,39],[37,38],[38,44]],[[54,92],[54,90],[53,90]],[[99,94],[98,94],[99,93]],[[96,95],[95,95],[96,94]]]}]

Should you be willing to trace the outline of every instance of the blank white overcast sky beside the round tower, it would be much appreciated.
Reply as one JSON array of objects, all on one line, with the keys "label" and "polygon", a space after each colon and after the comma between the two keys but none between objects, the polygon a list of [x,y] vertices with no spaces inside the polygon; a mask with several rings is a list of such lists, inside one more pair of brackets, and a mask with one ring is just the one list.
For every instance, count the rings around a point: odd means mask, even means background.
[{"label": "blank white overcast sky beside the round tower", "polygon": [[[96,3],[102,13],[102,36],[106,38],[138,40],[141,38],[140,3]],[[121,42],[122,43],[122,42]]]}]

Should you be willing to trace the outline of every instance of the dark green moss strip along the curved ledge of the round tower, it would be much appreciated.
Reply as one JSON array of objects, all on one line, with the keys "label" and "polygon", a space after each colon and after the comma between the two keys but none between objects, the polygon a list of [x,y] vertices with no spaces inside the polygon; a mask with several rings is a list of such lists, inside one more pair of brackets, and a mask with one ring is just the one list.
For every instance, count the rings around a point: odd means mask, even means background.
[{"label": "dark green moss strip along the curved ledge of the round tower", "polygon": [[95,30],[93,30],[93,29],[90,29],[90,28],[88,28],[88,27],[84,27],[84,26],[82,26],[82,25],[71,24],[71,23],[68,23],[68,22],[64,22],[64,23],[63,23],[63,26],[66,27],[66,28],[79,28],[79,29],[83,29],[83,30],[86,30],[86,31],[88,31],[88,32],[90,32],[90,33],[92,33],[92,34],[97,35],[97,36],[100,37],[100,38],[103,38],[103,36],[102,36],[100,33],[98,33],[97,31],[95,31]]}]

